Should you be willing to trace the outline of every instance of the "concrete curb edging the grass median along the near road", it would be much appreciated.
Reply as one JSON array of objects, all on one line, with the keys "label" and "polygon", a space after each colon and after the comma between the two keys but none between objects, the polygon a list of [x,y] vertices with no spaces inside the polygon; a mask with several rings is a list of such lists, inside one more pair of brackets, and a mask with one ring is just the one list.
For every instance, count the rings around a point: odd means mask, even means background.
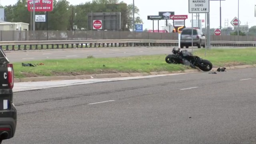
[{"label": "concrete curb edging the grass median along the near road", "polygon": [[[255,65],[243,65],[226,67],[226,69],[239,69],[239,68],[255,68]],[[211,71],[217,71],[218,68],[212,68]],[[116,73],[116,74],[94,74],[94,75],[80,75],[80,76],[40,76],[40,77],[25,77],[15,78],[14,82],[38,82],[38,81],[52,81],[52,80],[71,80],[71,79],[91,79],[93,78],[113,78],[113,77],[129,77],[129,76],[149,76],[149,75],[163,75],[172,73],[191,73],[202,72],[200,69],[186,69],[184,71],[162,71],[162,72],[150,72],[150,73]]]}]

